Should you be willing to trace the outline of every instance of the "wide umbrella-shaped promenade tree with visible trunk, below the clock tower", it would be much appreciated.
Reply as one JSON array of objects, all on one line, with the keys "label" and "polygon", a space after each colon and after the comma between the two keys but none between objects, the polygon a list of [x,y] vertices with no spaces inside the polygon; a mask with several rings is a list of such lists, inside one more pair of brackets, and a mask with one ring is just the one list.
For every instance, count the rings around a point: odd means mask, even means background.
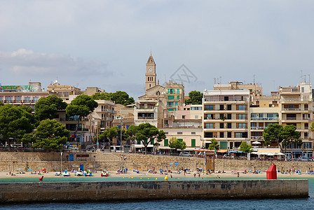
[{"label": "wide umbrella-shaped promenade tree with visible trunk, below the clock tower", "polygon": [[147,146],[151,141],[156,140],[157,142],[161,142],[166,138],[163,130],[158,130],[157,127],[149,123],[142,123],[139,124],[139,126],[131,125],[127,134],[130,139],[142,141],[142,144],[145,147],[145,154],[147,154]]}]

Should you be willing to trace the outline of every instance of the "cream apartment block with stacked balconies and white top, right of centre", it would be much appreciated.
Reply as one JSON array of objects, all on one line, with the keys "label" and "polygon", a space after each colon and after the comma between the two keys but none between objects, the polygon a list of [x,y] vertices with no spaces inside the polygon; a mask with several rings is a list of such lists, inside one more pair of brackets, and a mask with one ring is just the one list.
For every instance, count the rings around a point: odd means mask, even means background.
[{"label": "cream apartment block with stacked balconies and white top, right of centre", "polygon": [[203,92],[203,139],[205,148],[217,139],[221,149],[238,148],[249,141],[250,90]]}]

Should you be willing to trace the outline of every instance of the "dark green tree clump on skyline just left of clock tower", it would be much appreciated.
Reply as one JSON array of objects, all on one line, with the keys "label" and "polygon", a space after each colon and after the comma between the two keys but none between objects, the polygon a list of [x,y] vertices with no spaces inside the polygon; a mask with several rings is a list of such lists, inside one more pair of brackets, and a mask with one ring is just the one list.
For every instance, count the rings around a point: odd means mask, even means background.
[{"label": "dark green tree clump on skyline just left of clock tower", "polygon": [[135,101],[132,97],[129,97],[128,93],[124,91],[116,91],[116,92],[96,92],[92,95],[94,100],[107,100],[114,101],[116,104],[129,105],[134,104]]}]

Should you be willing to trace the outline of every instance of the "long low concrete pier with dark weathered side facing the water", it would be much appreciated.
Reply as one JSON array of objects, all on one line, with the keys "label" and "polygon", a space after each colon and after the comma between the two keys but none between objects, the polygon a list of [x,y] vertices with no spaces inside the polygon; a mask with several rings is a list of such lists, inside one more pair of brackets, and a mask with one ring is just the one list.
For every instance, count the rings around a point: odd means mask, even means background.
[{"label": "long low concrete pier with dark weathered side facing the water", "polygon": [[308,197],[308,180],[0,183],[0,203]]}]

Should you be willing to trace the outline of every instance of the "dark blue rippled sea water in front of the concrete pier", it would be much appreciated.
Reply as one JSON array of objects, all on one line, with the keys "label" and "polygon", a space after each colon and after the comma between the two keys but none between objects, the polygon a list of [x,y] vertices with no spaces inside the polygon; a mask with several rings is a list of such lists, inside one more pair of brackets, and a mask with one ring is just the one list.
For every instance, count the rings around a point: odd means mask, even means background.
[{"label": "dark blue rippled sea water in front of the concrete pier", "polygon": [[[308,199],[285,200],[156,200],[142,202],[85,202],[9,204],[0,209],[314,209],[314,178],[308,179]],[[1,189],[0,189],[1,190]]]}]

